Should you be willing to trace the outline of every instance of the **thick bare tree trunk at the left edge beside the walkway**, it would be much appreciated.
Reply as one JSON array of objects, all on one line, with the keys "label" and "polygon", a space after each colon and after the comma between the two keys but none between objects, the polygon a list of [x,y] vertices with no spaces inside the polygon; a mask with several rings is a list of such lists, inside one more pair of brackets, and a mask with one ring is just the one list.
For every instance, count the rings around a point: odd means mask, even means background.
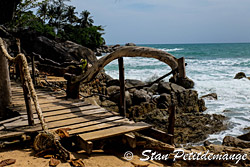
[{"label": "thick bare tree trunk at the left edge beside the walkway", "polygon": [[11,102],[11,89],[8,62],[0,50],[0,117],[6,116],[6,106]]}]

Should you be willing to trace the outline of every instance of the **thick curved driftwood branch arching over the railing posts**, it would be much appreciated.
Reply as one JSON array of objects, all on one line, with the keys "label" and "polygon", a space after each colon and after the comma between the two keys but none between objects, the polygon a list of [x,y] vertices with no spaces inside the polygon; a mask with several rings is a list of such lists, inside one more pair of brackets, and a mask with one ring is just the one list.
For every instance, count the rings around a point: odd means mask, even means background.
[{"label": "thick curved driftwood branch arching over the railing posts", "polygon": [[132,47],[132,46],[125,46],[117,51],[106,55],[99,59],[91,68],[89,68],[85,73],[82,75],[76,76],[72,78],[72,83],[83,82],[87,83],[91,81],[107,64],[111,61],[118,59],[120,57],[148,57],[148,58],[155,58],[159,61],[162,61],[168,64],[172,70],[175,70],[178,67],[177,60],[171,54],[160,51],[153,48],[148,47]]}]

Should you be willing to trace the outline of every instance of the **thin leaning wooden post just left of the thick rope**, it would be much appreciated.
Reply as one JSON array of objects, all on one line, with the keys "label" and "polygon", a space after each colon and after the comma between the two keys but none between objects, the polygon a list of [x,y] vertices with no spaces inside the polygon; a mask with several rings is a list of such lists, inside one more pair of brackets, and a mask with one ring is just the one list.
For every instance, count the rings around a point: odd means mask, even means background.
[{"label": "thin leaning wooden post just left of the thick rope", "polygon": [[28,89],[28,84],[24,78],[24,73],[22,70],[22,65],[21,63],[19,63],[19,71],[21,73],[20,78],[21,78],[21,82],[22,82],[22,86],[23,86],[23,95],[24,95],[24,100],[25,100],[25,105],[26,105],[26,110],[27,110],[27,116],[28,116],[28,123],[30,126],[35,125],[34,123],[34,118],[33,118],[33,112],[32,112],[32,108],[31,108],[31,96],[30,96],[30,92]]}]

